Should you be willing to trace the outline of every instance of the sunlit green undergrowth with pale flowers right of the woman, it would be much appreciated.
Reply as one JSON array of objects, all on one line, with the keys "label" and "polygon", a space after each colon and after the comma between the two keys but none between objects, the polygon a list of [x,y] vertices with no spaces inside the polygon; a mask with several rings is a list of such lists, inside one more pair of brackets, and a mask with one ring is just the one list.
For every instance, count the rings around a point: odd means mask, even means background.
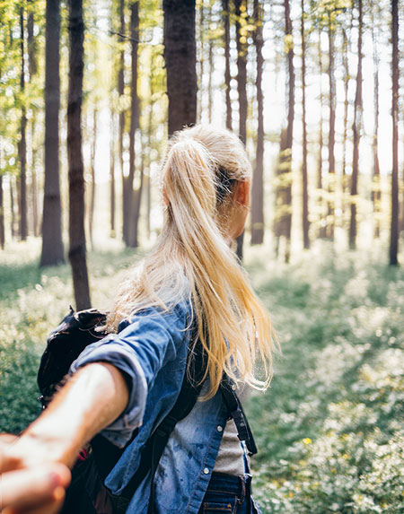
[{"label": "sunlit green undergrowth with pale flowers right of the woman", "polygon": [[264,511],[404,509],[404,273],[358,260],[324,252],[259,283],[284,352],[249,405]]}]

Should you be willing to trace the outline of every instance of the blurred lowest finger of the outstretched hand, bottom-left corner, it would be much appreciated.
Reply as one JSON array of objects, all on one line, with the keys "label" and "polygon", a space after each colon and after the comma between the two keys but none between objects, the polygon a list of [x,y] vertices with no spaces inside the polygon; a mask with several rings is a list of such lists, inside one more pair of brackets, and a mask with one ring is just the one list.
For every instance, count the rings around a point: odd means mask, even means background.
[{"label": "blurred lowest finger of the outstretched hand, bottom-left corner", "polygon": [[64,490],[70,482],[70,471],[53,463],[4,473],[0,481],[0,509],[34,507],[53,500],[57,488]]}]

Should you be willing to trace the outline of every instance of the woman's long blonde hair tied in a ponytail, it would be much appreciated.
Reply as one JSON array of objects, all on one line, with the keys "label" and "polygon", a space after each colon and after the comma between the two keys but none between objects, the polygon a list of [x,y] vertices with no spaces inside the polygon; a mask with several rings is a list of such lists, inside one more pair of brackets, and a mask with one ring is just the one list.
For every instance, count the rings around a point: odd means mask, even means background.
[{"label": "woman's long blonde hair tied in a ponytail", "polygon": [[[232,216],[233,184],[250,179],[236,135],[213,126],[175,133],[162,165],[165,219],[158,244],[123,284],[109,327],[140,309],[170,309],[189,298],[206,353],[205,378],[215,395],[223,373],[235,382],[265,389],[276,340],[268,311],[224,239]],[[254,376],[260,355],[263,378]]]}]

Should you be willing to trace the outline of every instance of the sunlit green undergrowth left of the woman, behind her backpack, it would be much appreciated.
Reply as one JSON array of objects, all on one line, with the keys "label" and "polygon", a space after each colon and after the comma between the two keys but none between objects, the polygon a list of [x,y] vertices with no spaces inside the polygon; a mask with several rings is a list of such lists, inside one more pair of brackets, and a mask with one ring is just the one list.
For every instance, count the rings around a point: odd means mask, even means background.
[{"label": "sunlit green undergrowth left of the woman, behind her backpack", "polygon": [[[0,264],[0,432],[18,433],[40,414],[36,374],[47,335],[73,303],[69,266],[40,270],[40,241],[19,243],[2,252]],[[115,250],[90,255],[95,305],[108,308],[119,281]],[[119,268],[133,261],[119,254]],[[114,275],[114,278],[111,278]]]}]

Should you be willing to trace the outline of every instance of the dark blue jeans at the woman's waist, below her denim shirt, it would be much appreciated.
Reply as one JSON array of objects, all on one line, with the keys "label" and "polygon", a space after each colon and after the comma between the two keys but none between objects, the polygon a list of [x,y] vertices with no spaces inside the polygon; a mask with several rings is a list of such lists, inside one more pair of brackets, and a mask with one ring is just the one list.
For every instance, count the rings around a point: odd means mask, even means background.
[{"label": "dark blue jeans at the woman's waist, below her denim shirt", "polygon": [[251,475],[213,473],[198,514],[261,514],[251,497]]}]

